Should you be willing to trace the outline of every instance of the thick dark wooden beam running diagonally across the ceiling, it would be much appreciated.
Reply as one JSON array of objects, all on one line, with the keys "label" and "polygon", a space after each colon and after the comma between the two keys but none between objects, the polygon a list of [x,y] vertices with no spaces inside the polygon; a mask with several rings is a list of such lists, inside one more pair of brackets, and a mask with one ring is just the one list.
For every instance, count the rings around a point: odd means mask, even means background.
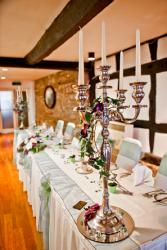
[{"label": "thick dark wooden beam running diagonally across the ceiling", "polygon": [[25,57],[36,64],[72,37],[113,0],[71,0],[55,18],[35,47]]}]

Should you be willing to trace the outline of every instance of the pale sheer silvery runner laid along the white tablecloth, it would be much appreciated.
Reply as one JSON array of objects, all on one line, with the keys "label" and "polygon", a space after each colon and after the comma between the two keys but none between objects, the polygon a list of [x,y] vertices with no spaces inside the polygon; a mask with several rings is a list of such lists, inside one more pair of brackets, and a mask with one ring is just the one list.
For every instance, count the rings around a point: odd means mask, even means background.
[{"label": "pale sheer silvery runner laid along the white tablecloth", "polygon": [[[40,169],[42,175],[50,174],[50,183],[54,191],[63,200],[64,206],[72,216],[73,220],[76,219],[81,211],[73,208],[73,205],[79,200],[84,200],[91,205],[93,201],[80,189],[80,187],[60,169],[60,167],[45,153],[40,152],[33,155],[33,158]],[[47,237],[45,235],[45,237]],[[101,244],[93,241],[89,241],[93,248],[95,249],[138,249],[136,243],[134,243],[130,238],[113,244]]]}]

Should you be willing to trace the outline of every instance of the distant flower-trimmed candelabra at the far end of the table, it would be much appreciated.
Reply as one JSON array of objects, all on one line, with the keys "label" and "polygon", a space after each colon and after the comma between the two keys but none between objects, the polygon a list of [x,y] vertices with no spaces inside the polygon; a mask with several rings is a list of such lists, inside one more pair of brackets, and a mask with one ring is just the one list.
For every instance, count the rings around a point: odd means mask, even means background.
[{"label": "distant flower-trimmed candelabra at the far end of the table", "polygon": [[23,95],[20,89],[20,86],[17,90],[17,100],[14,107],[14,111],[18,114],[18,120],[20,122],[19,129],[24,129],[24,119],[25,113],[27,111],[27,102],[23,100]]}]

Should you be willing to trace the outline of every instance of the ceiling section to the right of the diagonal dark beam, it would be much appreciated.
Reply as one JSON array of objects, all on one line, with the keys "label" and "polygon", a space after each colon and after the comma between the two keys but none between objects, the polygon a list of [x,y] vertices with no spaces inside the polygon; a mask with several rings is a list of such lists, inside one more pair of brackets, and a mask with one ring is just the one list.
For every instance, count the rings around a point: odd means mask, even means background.
[{"label": "ceiling section to the right of the diagonal dark beam", "polygon": [[[135,45],[140,29],[141,42],[167,32],[167,0],[115,0],[84,28],[84,58],[94,51],[101,57],[101,23],[106,22],[107,54]],[[78,60],[78,34],[47,57],[49,60]]]}]

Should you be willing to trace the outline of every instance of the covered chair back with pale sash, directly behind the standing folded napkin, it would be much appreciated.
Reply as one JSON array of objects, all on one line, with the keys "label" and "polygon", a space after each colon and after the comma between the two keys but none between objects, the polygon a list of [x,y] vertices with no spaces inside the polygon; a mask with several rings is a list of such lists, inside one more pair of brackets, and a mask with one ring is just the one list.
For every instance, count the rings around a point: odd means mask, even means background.
[{"label": "covered chair back with pale sash, directly behind the standing folded napkin", "polygon": [[132,171],[142,154],[141,142],[133,138],[123,139],[116,159],[116,166]]}]

